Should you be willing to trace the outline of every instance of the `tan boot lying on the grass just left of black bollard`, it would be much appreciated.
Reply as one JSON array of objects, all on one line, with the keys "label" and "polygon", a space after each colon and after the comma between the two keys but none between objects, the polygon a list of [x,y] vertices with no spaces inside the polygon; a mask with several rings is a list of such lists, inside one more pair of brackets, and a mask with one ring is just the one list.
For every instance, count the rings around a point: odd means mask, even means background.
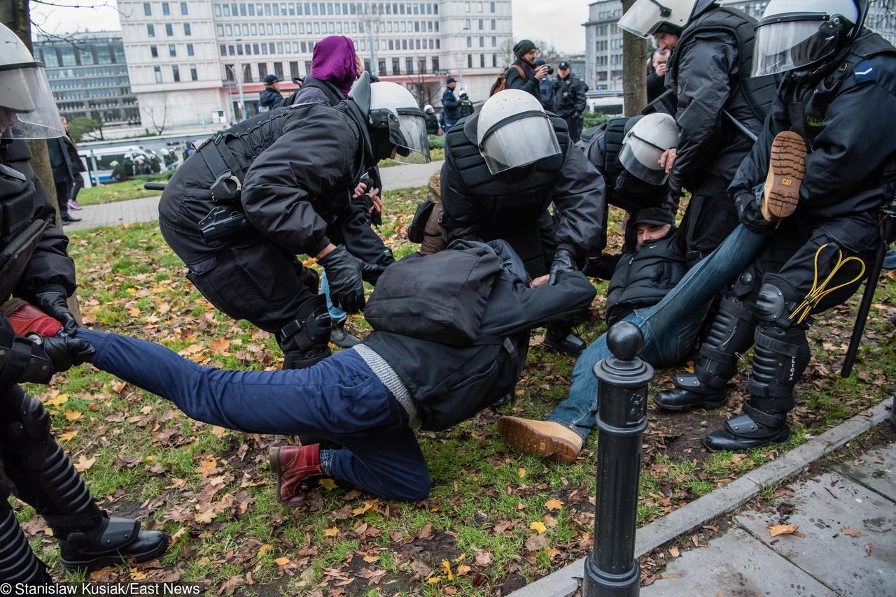
[{"label": "tan boot lying on the grass just left of black bollard", "polygon": [[557,462],[573,463],[582,450],[579,434],[558,422],[505,416],[498,419],[498,434],[518,452],[550,457]]}]

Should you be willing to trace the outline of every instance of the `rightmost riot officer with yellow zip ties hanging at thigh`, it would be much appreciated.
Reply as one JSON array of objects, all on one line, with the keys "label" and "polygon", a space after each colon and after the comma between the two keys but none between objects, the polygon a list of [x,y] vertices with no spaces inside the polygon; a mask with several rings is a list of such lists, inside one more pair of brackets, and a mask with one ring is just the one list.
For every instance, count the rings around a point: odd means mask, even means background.
[{"label": "rightmost riot officer with yellow zip ties hanging at thigh", "polygon": [[881,243],[879,209],[896,189],[896,138],[881,125],[896,113],[896,49],[863,29],[867,10],[866,0],[771,0],[756,28],[754,73],[787,74],[730,192],[745,226],[769,238],[721,303],[694,375],[654,398],[670,411],[725,405],[737,355],[754,345],[743,412],[707,448],[788,439],[812,315],[855,293]]}]

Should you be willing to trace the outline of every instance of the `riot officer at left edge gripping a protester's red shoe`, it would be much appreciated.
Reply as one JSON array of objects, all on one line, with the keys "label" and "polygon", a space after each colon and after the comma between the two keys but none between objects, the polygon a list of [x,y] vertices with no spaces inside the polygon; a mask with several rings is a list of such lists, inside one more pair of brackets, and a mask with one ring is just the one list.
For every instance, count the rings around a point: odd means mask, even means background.
[{"label": "riot officer at left edge gripping a protester's red shoe", "polygon": [[[3,25],[0,45],[0,302],[12,294],[55,318],[27,311],[22,300],[0,310],[0,581],[49,583],[16,521],[10,492],[44,517],[67,568],[107,566],[129,556],[153,559],[168,546],[168,537],[100,510],[53,439],[44,406],[16,385],[47,383],[55,372],[84,362],[92,347],[68,337],[77,328],[65,301],[74,292],[74,264],[22,141],[60,137],[62,121],[43,65]],[[58,337],[26,337],[47,326]]]}]

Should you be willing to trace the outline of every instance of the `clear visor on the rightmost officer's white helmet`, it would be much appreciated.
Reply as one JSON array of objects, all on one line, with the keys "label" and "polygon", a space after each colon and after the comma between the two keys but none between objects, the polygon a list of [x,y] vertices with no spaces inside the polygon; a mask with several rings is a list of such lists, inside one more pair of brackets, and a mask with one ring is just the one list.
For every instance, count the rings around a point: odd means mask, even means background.
[{"label": "clear visor on the rightmost officer's white helmet", "polygon": [[779,17],[756,27],[752,76],[792,71],[830,55],[837,47],[838,27],[824,13]]}]

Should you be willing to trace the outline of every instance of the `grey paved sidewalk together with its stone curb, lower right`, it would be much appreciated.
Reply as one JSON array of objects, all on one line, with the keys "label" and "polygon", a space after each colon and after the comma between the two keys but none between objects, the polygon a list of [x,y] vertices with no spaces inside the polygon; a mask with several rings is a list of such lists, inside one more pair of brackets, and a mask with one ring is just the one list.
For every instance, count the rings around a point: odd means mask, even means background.
[{"label": "grey paved sidewalk together with its stone curb, lower right", "polygon": [[[890,424],[892,399],[858,414],[799,448],[746,473],[638,529],[635,557],[753,499],[762,487],[872,429]],[[896,595],[896,444],[876,448],[818,477],[790,482],[773,512],[740,511],[731,528],[703,549],[682,548],[643,597],[706,595]],[[771,537],[771,525],[797,525]],[[584,559],[521,588],[512,597],[570,597],[582,583]]]}]

